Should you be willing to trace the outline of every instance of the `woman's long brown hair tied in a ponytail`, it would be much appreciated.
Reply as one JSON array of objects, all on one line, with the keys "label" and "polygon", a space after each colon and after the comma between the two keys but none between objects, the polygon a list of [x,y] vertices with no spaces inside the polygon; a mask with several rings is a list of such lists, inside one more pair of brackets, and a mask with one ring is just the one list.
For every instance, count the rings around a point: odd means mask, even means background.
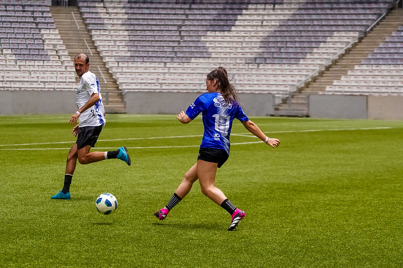
[{"label": "woman's long brown hair tied in a ponytail", "polygon": [[225,101],[239,104],[239,98],[235,86],[228,80],[228,74],[224,67],[218,67],[207,74],[207,79],[216,80],[221,95]]}]

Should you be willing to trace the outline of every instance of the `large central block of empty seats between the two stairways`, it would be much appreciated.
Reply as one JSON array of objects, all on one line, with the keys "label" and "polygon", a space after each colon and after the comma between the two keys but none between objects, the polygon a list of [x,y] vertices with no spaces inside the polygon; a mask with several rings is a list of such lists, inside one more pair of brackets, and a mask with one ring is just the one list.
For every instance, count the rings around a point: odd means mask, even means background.
[{"label": "large central block of empty seats between the two stairways", "polygon": [[318,75],[390,8],[264,3],[79,6],[122,90],[202,91],[212,65],[224,65],[241,91],[279,96]]}]

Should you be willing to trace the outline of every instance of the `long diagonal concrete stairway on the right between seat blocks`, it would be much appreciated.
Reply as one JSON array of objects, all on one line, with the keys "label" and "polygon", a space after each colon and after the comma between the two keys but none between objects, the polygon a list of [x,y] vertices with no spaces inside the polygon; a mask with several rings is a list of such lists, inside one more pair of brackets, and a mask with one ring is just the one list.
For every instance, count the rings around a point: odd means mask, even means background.
[{"label": "long diagonal concrete stairway on the right between seat blocks", "polygon": [[309,116],[308,96],[319,94],[325,91],[327,85],[331,85],[334,80],[339,80],[342,75],[346,75],[355,65],[360,65],[368,54],[373,53],[379,44],[384,42],[386,37],[397,31],[403,25],[403,10],[392,10],[390,13],[373,28],[358,44],[346,54],[341,55],[331,66],[327,67],[320,75],[308,83],[305,87],[299,88],[298,92],[283,100],[274,109],[276,116]]}]

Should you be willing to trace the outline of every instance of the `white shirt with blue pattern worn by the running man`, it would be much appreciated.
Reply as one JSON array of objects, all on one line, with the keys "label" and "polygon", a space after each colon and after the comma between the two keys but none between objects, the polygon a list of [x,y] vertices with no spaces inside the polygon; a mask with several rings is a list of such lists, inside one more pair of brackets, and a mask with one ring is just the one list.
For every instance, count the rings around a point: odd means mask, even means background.
[{"label": "white shirt with blue pattern worn by the running man", "polygon": [[105,124],[105,109],[102,104],[102,96],[98,78],[90,71],[87,71],[81,76],[80,83],[77,88],[77,108],[83,107],[91,95],[94,93],[99,94],[99,101],[92,107],[88,108],[81,113],[79,117],[80,127],[95,127]]}]

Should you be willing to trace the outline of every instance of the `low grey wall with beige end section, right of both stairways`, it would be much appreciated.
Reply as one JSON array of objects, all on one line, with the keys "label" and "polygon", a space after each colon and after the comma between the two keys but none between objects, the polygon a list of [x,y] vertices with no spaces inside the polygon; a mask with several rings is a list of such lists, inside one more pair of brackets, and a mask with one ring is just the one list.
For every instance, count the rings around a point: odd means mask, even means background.
[{"label": "low grey wall with beige end section, right of both stairways", "polygon": [[312,118],[403,120],[403,96],[310,95]]}]

